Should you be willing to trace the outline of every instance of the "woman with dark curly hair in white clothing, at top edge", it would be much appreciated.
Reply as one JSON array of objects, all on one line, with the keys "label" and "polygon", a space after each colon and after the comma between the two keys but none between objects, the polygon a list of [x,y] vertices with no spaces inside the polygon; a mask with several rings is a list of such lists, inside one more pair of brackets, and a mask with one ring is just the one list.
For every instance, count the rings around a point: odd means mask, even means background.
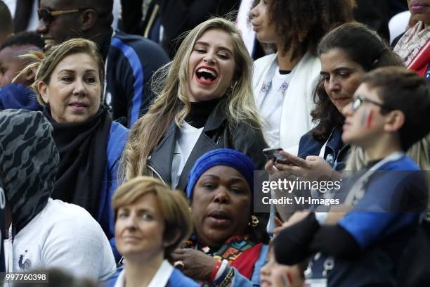
[{"label": "woman with dark curly hair in white clothing, at top edge", "polygon": [[261,0],[251,11],[259,42],[278,53],[256,60],[253,88],[266,120],[269,146],[297,154],[300,136],[313,127],[312,92],[320,72],[316,49],[333,27],[351,21],[344,0]]}]

